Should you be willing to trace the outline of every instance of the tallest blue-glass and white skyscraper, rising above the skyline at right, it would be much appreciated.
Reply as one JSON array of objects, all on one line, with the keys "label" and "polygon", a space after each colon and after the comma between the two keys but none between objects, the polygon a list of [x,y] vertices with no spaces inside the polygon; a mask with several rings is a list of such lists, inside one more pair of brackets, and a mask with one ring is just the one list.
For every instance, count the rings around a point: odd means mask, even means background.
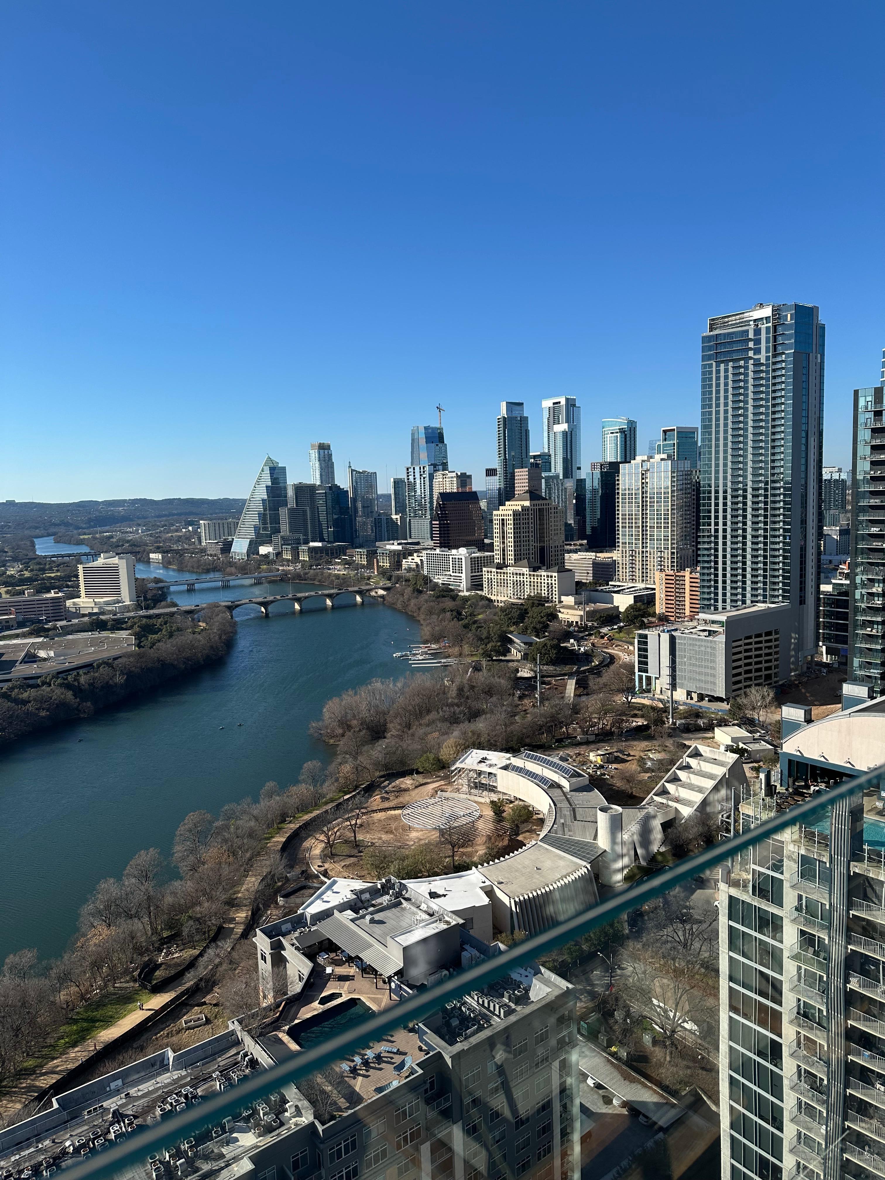
[{"label": "tallest blue-glass and white skyscraper, rising above the skyline at right", "polygon": [[701,341],[701,610],[789,603],[818,649],[824,324],[804,303],[714,316]]}]

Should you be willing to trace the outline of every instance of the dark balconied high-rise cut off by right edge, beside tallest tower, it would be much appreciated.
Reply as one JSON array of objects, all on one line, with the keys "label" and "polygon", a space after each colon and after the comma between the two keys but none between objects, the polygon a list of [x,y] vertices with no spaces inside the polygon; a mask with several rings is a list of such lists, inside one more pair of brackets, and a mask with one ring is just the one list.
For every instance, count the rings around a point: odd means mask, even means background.
[{"label": "dark balconied high-rise cut off by right edge, beside tallest tower", "polygon": [[885,386],[854,391],[848,680],[885,694]]}]

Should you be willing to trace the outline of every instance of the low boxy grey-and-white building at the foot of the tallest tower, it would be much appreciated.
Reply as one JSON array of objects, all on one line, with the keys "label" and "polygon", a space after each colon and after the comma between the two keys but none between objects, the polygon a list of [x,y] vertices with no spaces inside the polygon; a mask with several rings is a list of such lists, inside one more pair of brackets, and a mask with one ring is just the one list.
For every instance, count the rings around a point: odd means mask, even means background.
[{"label": "low boxy grey-and-white building at the foot of the tallest tower", "polygon": [[729,701],[789,678],[791,607],[701,610],[696,622],[636,631],[636,687],[680,700]]}]

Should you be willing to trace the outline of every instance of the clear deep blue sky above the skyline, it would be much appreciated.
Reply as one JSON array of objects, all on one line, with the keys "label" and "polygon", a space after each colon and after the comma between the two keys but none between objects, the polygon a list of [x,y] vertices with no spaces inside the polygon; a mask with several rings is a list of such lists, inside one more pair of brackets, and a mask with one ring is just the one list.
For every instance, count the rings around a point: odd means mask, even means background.
[{"label": "clear deep blue sky above the skyline", "polygon": [[825,459],[878,380],[880,0],[13,0],[0,498],[402,473],[446,408],[699,419],[706,316],[818,303]]}]

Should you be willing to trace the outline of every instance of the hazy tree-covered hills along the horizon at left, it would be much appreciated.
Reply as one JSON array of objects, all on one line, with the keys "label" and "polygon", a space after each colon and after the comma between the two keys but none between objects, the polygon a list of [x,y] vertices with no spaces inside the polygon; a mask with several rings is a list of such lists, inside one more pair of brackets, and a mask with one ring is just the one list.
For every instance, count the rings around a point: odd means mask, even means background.
[{"label": "hazy tree-covered hills along the horizon at left", "polygon": [[48,537],[57,532],[109,529],[157,520],[196,523],[211,517],[238,517],[245,500],[222,498],[169,500],[77,500],[40,504],[38,500],[0,503],[0,536]]}]

